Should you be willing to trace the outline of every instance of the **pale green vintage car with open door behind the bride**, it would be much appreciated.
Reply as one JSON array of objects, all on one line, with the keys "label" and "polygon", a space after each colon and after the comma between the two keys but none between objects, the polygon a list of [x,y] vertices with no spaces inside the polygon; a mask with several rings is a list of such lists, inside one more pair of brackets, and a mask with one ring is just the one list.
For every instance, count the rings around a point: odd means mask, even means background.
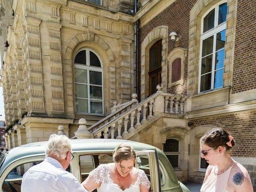
[{"label": "pale green vintage car with open door behind the bride", "polygon": [[[74,159],[68,171],[80,181],[99,164],[113,162],[112,152],[120,143],[130,144],[137,154],[137,167],[144,170],[151,182],[153,192],[189,192],[179,182],[165,154],[148,144],[116,139],[70,140]],[[47,142],[35,142],[3,152],[0,157],[0,191],[20,192],[23,174],[45,158]]]}]

